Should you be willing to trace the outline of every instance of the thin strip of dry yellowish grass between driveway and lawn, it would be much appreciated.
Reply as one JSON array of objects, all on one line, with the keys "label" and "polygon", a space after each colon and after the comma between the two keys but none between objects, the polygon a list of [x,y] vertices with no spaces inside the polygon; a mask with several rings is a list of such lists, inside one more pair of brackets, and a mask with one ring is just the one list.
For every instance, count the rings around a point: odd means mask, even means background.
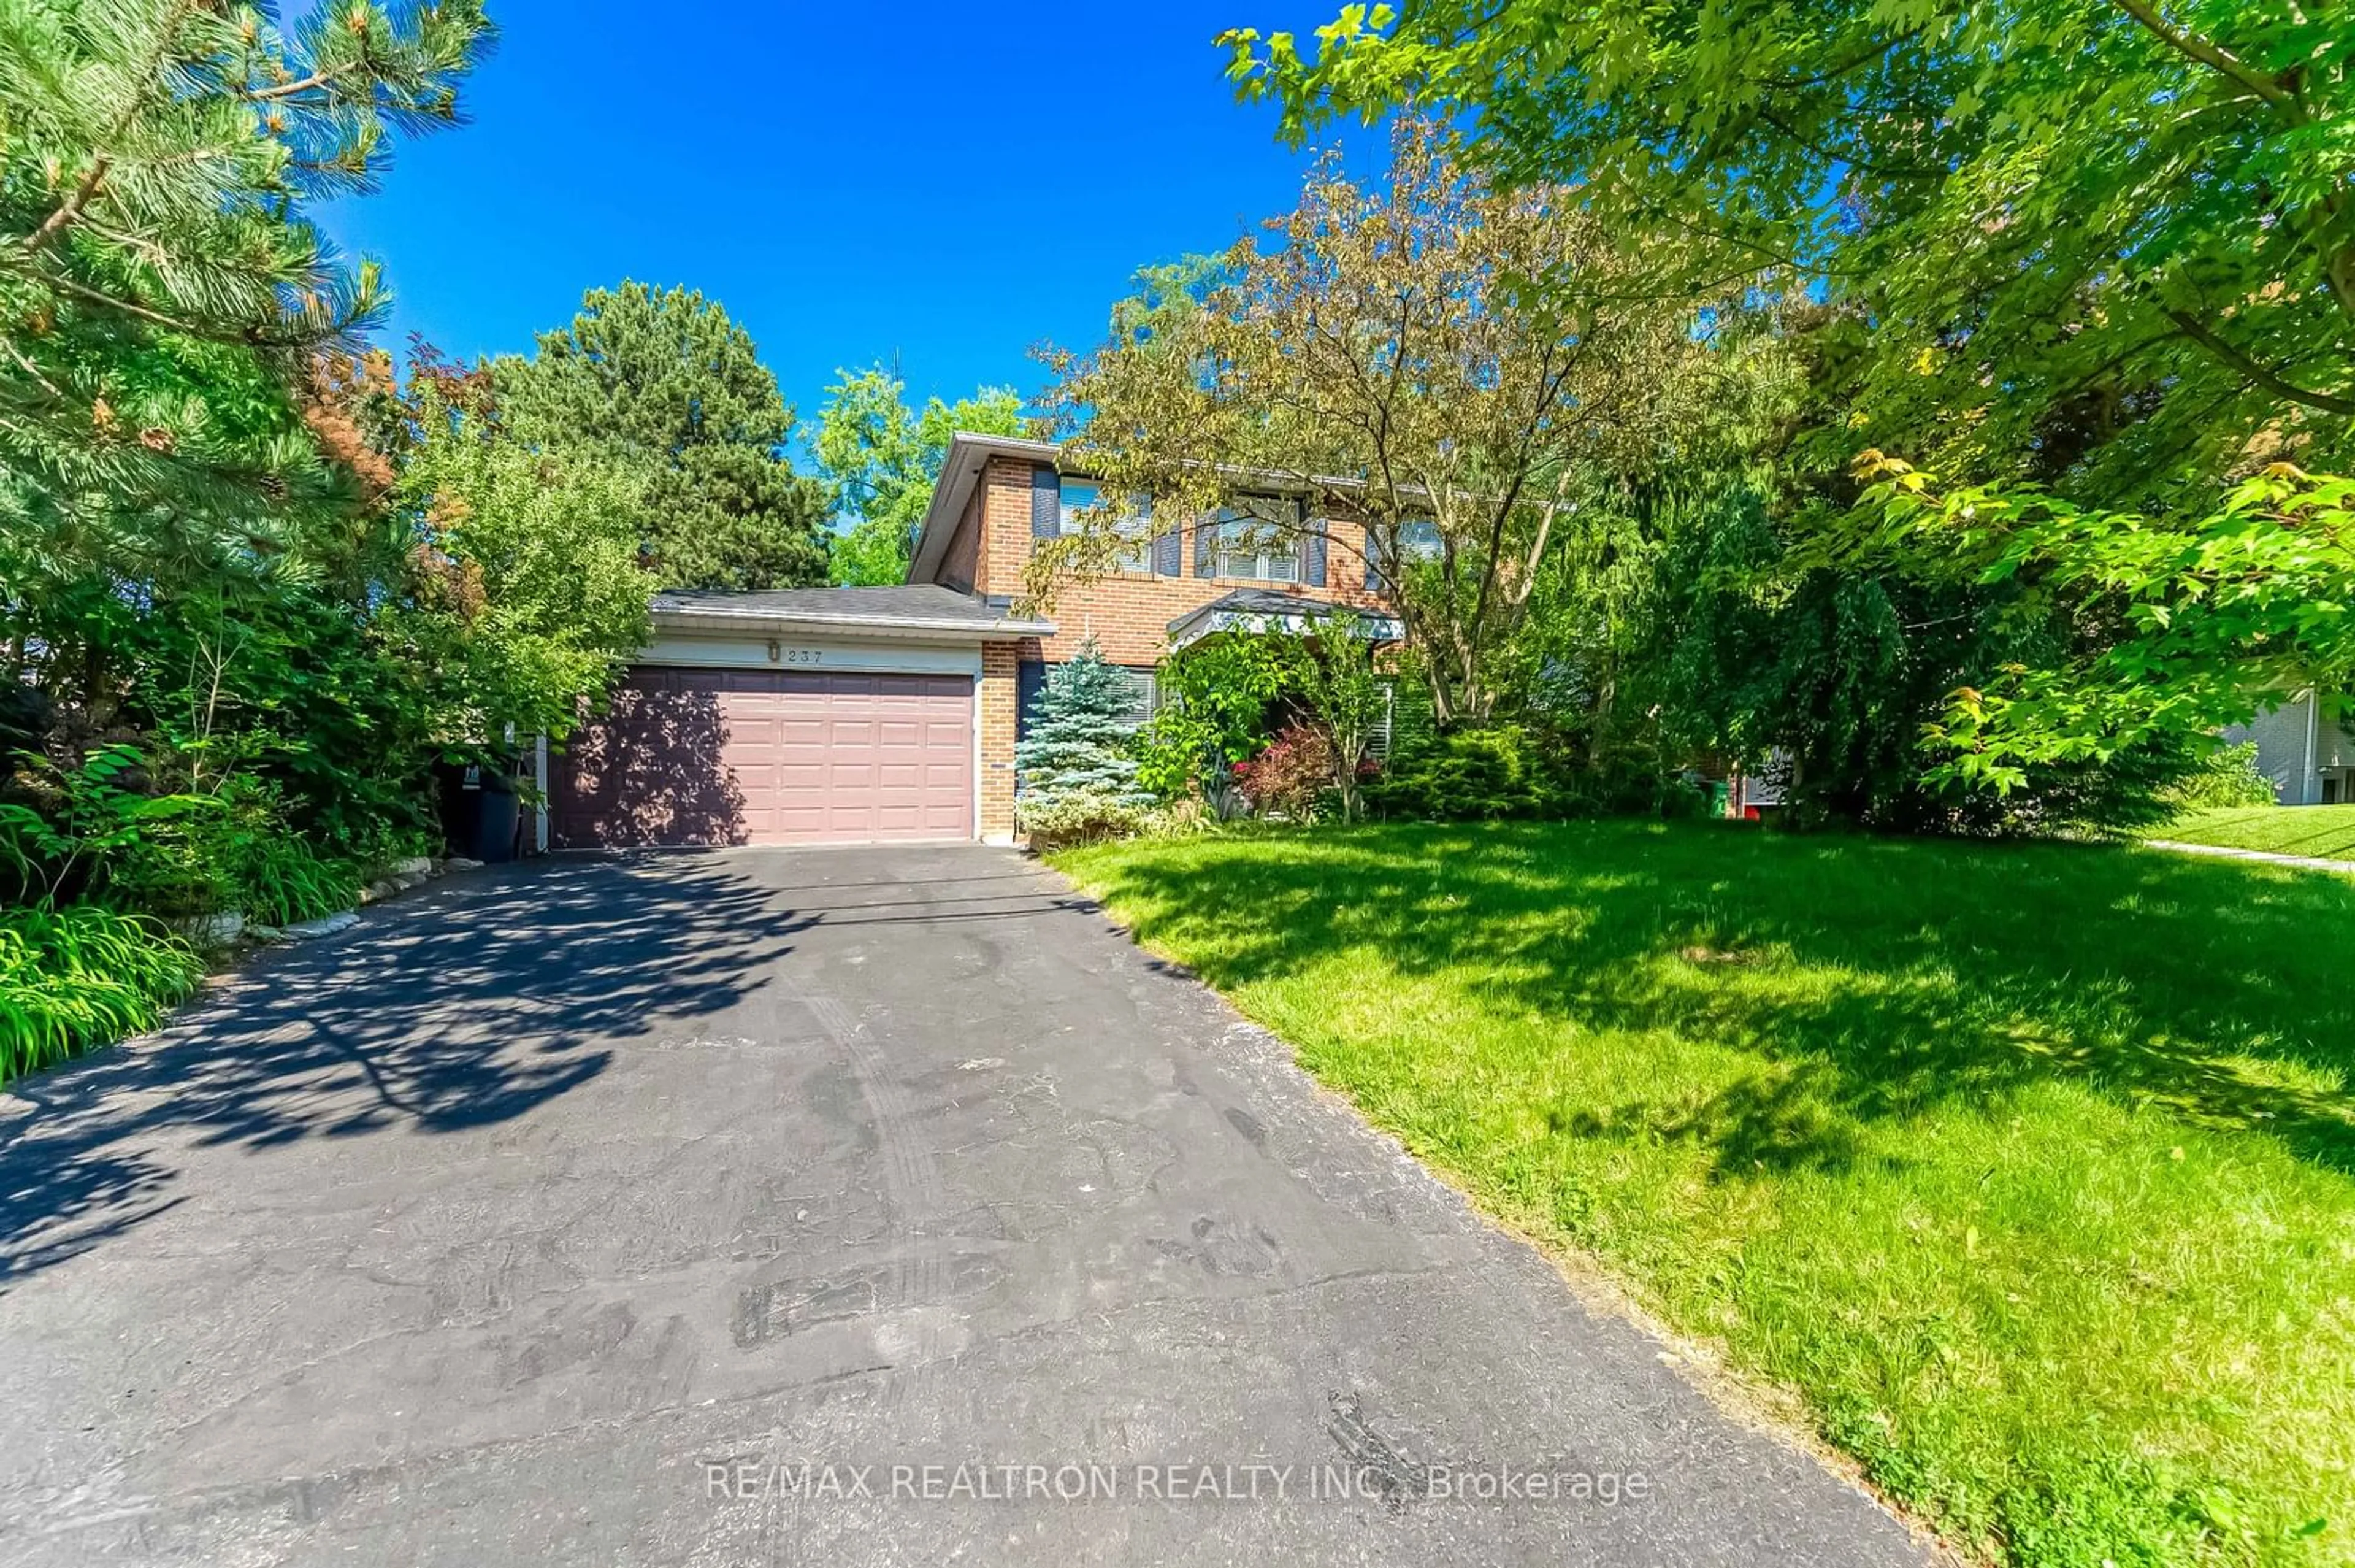
[{"label": "thin strip of dry yellowish grass between driveway and lawn", "polygon": [[1437,1163],[1415,1151],[1397,1130],[1375,1118],[1364,1104],[1359,1104],[1347,1090],[1340,1090],[1316,1076],[1309,1067],[1300,1062],[1300,1050],[1281,1031],[1276,1031],[1267,1019],[1258,1017],[1239,1003],[1227,991],[1220,991],[1194,965],[1185,963],[1178,954],[1147,942],[1137,935],[1137,928],[1123,916],[1123,911],[1112,902],[1112,895],[1090,881],[1083,881],[1055,855],[1031,855],[1041,866],[1053,871],[1074,892],[1095,904],[1104,923],[1112,925],[1114,935],[1123,937],[1140,954],[1156,958],[1173,975],[1199,984],[1203,991],[1215,996],[1229,1012],[1241,1022],[1251,1024],[1269,1041],[1281,1048],[1283,1062],[1309,1085],[1309,1090],[1345,1109],[1359,1125],[1389,1144],[1399,1158],[1413,1161],[1415,1170],[1425,1172],[1451,1194],[1455,1194],[1465,1212],[1470,1212],[1479,1224],[1488,1227],[1498,1236],[1517,1241],[1533,1250],[1554,1271],[1554,1278],[1571,1293],[1571,1297],[1587,1311],[1618,1318],[1637,1328],[1644,1337],[1658,1342],[1660,1361],[1670,1373],[1677,1375],[1689,1389],[1700,1394],[1710,1408],[1719,1415],[1733,1420],[1747,1431],[1754,1431],[1769,1441],[1783,1443],[1811,1457],[1816,1464],[1827,1469],[1835,1479],[1853,1486],[1858,1493],[1870,1497],[1875,1507],[1898,1521],[1917,1547],[1924,1547],[1936,1561],[1948,1568],[1999,1568],[1999,1559],[1976,1554],[1964,1542],[1952,1540],[1941,1533],[1919,1509],[1891,1497],[1882,1490],[1863,1467],[1863,1460],[1839,1448],[1816,1424],[1813,1406],[1806,1396],[1783,1382],[1752,1373],[1738,1366],[1722,1340],[1714,1335],[1693,1335],[1672,1326],[1663,1311],[1648,1300],[1641,1281],[1623,1276],[1611,1269],[1611,1264],[1587,1248],[1561,1241],[1559,1236],[1545,1234],[1526,1222],[1524,1215],[1514,1215],[1502,1205],[1491,1203],[1481,1196],[1470,1177],[1453,1170],[1446,1163]]}]

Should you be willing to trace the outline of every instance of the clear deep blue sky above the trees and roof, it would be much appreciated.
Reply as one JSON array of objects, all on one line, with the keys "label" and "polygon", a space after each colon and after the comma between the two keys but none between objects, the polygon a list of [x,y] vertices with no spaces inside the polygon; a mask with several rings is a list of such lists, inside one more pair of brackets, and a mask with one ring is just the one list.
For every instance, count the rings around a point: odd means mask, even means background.
[{"label": "clear deep blue sky above the trees and roof", "polygon": [[1034,396],[1027,351],[1093,344],[1137,266],[1291,205],[1302,155],[1210,40],[1331,9],[492,0],[473,122],[325,226],[384,261],[396,348],[520,351],[641,278],[721,299],[803,419],[893,356],[916,398]]}]

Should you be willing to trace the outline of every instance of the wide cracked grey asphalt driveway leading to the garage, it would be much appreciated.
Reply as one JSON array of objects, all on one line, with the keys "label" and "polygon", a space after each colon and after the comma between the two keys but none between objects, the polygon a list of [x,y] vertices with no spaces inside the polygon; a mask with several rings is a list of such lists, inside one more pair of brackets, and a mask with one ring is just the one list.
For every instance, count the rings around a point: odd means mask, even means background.
[{"label": "wide cracked grey asphalt driveway leading to the garage", "polygon": [[1924,1561],[1663,1349],[1006,850],[471,873],[0,1095],[7,1563]]}]

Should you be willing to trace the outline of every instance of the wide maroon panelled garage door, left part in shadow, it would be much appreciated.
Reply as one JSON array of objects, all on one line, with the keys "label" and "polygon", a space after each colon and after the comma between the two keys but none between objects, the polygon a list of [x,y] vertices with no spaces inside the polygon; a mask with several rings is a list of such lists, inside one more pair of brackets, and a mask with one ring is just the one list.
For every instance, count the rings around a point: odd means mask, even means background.
[{"label": "wide maroon panelled garage door, left part in shadow", "polygon": [[973,678],[638,666],[553,770],[558,848],[973,836]]}]

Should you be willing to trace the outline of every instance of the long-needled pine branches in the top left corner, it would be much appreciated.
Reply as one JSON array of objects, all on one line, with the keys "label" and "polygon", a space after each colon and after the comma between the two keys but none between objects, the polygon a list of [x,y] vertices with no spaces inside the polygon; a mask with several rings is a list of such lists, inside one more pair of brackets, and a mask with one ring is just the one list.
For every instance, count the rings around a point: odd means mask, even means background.
[{"label": "long-needled pine branches in the top left corner", "polygon": [[[320,471],[276,414],[386,304],[304,217],[457,120],[480,0],[0,7],[0,520],[71,577],[268,539]],[[264,490],[257,480],[271,480]]]}]

